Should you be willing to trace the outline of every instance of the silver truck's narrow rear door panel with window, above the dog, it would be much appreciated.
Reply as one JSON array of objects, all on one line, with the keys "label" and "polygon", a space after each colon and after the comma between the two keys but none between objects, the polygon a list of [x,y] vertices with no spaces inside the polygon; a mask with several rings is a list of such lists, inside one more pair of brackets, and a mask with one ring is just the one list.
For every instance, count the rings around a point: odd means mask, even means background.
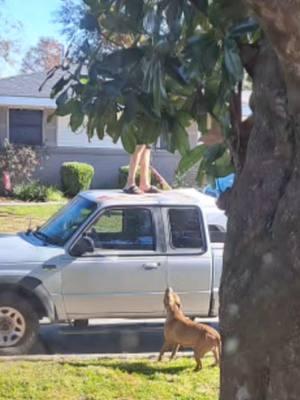
[{"label": "silver truck's narrow rear door panel with window, above the dog", "polygon": [[212,284],[212,257],[199,207],[164,207],[167,281],[189,315],[207,316]]}]

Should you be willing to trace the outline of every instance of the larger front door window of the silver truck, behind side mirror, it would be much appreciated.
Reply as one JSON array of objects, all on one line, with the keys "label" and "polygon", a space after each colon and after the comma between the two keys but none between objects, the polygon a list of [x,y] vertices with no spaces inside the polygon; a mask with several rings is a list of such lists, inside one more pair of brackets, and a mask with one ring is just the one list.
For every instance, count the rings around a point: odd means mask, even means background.
[{"label": "larger front door window of the silver truck, behind side mirror", "polygon": [[152,214],[146,208],[107,210],[87,234],[96,249],[155,250]]}]

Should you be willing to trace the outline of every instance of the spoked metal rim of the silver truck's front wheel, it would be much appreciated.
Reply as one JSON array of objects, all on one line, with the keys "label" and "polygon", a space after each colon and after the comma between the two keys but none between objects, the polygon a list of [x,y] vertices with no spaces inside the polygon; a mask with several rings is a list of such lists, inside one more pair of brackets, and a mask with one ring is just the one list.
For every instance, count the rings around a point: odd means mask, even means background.
[{"label": "spoked metal rim of the silver truck's front wheel", "polygon": [[0,307],[0,347],[15,346],[25,335],[23,315],[12,307]]}]

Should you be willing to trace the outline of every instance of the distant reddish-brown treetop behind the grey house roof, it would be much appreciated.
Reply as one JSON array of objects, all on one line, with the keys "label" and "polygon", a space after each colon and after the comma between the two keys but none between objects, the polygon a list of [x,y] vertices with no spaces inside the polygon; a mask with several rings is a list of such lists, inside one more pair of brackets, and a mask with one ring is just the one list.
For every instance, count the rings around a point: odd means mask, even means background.
[{"label": "distant reddish-brown treetop behind the grey house roof", "polygon": [[49,71],[61,64],[63,45],[53,38],[41,38],[36,46],[25,54],[21,72],[32,73]]}]

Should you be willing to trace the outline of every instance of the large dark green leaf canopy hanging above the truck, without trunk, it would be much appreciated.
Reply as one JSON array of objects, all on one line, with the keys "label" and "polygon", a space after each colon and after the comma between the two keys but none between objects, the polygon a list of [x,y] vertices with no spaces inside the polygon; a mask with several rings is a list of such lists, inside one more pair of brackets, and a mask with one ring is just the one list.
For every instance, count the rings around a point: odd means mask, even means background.
[{"label": "large dark green leaf canopy hanging above the truck, without trunk", "polygon": [[[70,115],[76,131],[106,132],[132,153],[137,142],[168,137],[169,150],[189,157],[187,127],[207,117],[232,135],[230,102],[244,77],[240,45],[255,44],[258,26],[233,0],[84,0],[81,27],[98,37],[81,46],[78,67],[69,57],[56,84],[58,115]],[[184,115],[184,122],[183,122]],[[214,161],[215,162],[215,161]],[[206,167],[207,162],[200,164]]]}]

